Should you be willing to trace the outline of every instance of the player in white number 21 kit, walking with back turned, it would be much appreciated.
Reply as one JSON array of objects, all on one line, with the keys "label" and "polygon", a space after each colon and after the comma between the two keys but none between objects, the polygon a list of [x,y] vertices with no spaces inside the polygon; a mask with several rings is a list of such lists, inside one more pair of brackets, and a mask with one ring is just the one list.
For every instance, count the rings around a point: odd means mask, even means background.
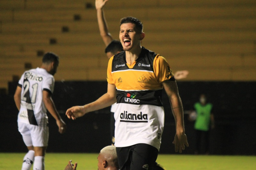
[{"label": "player in white number 21 kit, walking with back turned", "polygon": [[57,72],[59,57],[46,53],[40,68],[23,73],[14,94],[19,110],[18,129],[27,146],[22,170],[44,170],[44,156],[49,139],[48,117],[46,109],[55,118],[62,134],[66,124],[55,108],[51,95],[54,88],[53,75]]}]

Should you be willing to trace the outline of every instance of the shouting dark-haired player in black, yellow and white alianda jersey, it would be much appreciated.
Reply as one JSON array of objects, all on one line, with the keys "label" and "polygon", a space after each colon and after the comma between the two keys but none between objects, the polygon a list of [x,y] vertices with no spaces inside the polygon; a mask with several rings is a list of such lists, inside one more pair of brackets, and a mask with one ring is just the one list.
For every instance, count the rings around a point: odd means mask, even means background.
[{"label": "shouting dark-haired player in black, yellow and white alianda jersey", "polygon": [[165,58],[141,47],[144,37],[140,20],[121,19],[119,39],[124,51],[109,60],[107,93],[92,103],[66,111],[68,118],[75,120],[117,102],[115,146],[121,170],[152,169],[154,166],[164,129],[163,88],[175,118],[175,151],[181,153],[185,145],[188,147],[177,83]]}]

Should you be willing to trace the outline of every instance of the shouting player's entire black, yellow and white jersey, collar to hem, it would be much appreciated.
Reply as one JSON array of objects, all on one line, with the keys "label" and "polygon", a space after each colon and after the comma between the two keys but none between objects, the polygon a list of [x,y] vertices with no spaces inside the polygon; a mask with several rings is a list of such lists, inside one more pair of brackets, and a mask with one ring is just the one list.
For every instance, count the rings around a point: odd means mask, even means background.
[{"label": "shouting player's entire black, yellow and white jersey, collar to hem", "polygon": [[115,84],[117,90],[115,145],[147,143],[159,149],[164,127],[161,83],[175,80],[165,58],[142,47],[130,65],[125,52],[121,52],[110,58],[107,76],[108,83]]}]

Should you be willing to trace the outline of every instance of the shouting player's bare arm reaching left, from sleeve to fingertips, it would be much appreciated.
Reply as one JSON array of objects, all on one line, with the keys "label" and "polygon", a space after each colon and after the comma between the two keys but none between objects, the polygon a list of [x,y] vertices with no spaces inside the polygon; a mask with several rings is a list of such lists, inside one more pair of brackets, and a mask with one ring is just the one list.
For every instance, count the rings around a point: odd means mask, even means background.
[{"label": "shouting player's bare arm reaching left, from sleeve to fingertips", "polygon": [[84,106],[73,106],[66,111],[66,116],[69,119],[75,120],[78,117],[82,117],[85,114],[103,109],[105,107],[111,106],[116,102],[116,86],[114,84],[108,83],[108,91],[96,101],[91,102],[89,104],[85,104]]}]

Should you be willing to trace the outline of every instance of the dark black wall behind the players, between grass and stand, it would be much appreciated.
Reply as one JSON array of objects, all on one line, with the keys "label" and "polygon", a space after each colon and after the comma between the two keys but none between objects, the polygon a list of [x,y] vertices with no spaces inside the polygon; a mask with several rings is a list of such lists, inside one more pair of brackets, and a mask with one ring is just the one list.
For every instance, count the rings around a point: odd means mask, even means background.
[{"label": "dark black wall behind the players, between grass and stand", "polygon": [[[205,93],[213,103],[215,129],[211,130],[210,152],[215,155],[256,155],[256,82],[177,82],[184,110],[193,109],[199,95]],[[17,82],[9,83],[9,94],[0,96],[0,152],[26,152],[18,132],[13,94]],[[65,116],[66,109],[92,102],[107,91],[105,81],[56,82],[52,96],[67,124],[67,132],[59,134],[54,118],[49,116],[50,139],[47,152],[99,152],[110,144],[110,107],[89,113],[76,121]],[[174,154],[174,118],[163,91],[165,128],[161,154]],[[190,146],[183,152],[194,153],[194,122],[184,115]]]}]

